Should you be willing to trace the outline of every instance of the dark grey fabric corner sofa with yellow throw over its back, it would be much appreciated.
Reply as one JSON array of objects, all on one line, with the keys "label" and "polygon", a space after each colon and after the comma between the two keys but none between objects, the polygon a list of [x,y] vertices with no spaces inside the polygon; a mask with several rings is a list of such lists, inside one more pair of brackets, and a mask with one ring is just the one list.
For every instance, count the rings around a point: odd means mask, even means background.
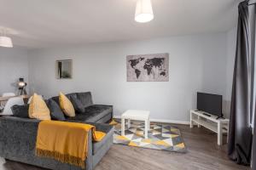
[{"label": "dark grey fabric corner sofa with yellow throw over its back", "polygon": [[[90,93],[87,93],[91,96]],[[77,94],[72,94],[77,95]],[[55,98],[53,98],[55,99]],[[91,97],[90,97],[91,99]],[[92,100],[91,100],[92,101]],[[92,104],[92,103],[91,103]],[[112,119],[112,106],[89,105],[84,113],[67,118],[67,122],[82,122],[94,125],[96,130],[106,133],[100,142],[93,142],[91,132],[88,141],[88,156],[85,160],[85,169],[91,170],[102,160],[113,144],[113,127],[105,122]],[[77,170],[75,167],[60,161],[35,156],[35,146],[38,133],[36,119],[5,116],[0,118],[0,156],[12,161],[20,161],[38,167],[56,170]],[[100,122],[100,123],[99,123]]]}]

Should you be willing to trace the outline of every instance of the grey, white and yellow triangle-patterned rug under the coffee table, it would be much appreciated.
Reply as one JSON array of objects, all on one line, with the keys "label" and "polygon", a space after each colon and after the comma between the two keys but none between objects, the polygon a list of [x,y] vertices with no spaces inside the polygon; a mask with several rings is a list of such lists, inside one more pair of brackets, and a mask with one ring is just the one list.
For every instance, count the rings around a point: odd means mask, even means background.
[{"label": "grey, white and yellow triangle-patterned rug under the coffee table", "polygon": [[144,139],[144,123],[131,121],[131,127],[125,125],[125,136],[121,136],[121,124],[115,120],[113,143],[142,147],[154,150],[166,150],[185,153],[186,146],[177,127],[168,124],[150,123],[148,139]]}]

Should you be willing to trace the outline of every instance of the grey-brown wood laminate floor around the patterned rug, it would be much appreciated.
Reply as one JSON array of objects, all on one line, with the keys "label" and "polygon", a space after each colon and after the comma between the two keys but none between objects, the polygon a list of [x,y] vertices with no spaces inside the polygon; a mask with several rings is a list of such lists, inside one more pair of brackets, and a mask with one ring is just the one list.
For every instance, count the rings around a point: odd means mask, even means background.
[{"label": "grey-brown wood laminate floor around the patterned rug", "polygon": [[[190,129],[185,125],[174,126],[179,127],[183,134],[183,139],[188,147],[186,154],[113,144],[95,170],[250,169],[230,161],[226,156],[227,144],[218,146],[216,134],[204,127]],[[15,161],[4,161],[1,158],[0,170],[43,170],[43,168]]]}]

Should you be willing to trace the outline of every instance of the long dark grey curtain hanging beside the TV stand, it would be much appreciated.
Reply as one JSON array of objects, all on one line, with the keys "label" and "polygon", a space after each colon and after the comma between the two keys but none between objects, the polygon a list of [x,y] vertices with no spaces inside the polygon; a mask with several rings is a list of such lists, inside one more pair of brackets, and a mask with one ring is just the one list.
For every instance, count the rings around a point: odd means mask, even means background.
[{"label": "long dark grey curtain hanging beside the TV stand", "polygon": [[[249,2],[239,4],[236,60],[230,107],[230,133],[228,155],[239,164],[249,165],[252,151],[251,121],[253,115],[252,22]],[[255,27],[254,27],[255,28]]]}]

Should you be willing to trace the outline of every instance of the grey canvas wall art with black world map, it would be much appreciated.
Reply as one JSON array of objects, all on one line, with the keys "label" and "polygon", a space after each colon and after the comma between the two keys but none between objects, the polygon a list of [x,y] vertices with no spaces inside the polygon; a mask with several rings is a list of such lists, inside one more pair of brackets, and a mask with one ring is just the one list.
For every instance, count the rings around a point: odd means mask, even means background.
[{"label": "grey canvas wall art with black world map", "polygon": [[127,55],[127,82],[168,82],[169,54]]}]

